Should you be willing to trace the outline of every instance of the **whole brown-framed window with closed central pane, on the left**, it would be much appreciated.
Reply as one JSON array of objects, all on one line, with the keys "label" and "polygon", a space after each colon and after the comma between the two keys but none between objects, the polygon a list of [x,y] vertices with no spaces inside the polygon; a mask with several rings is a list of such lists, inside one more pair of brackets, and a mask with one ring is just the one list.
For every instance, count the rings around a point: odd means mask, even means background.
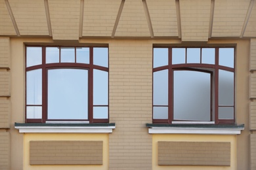
[{"label": "whole brown-framed window with closed central pane, on the left", "polygon": [[108,48],[26,47],[26,122],[108,122]]}]

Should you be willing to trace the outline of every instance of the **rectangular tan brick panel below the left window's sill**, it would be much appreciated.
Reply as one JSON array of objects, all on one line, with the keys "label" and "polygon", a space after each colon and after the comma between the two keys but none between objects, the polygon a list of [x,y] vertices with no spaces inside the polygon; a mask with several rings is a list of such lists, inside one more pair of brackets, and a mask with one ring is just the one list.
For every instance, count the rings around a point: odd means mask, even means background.
[{"label": "rectangular tan brick panel below the left window's sill", "polygon": [[102,165],[102,141],[30,141],[30,165]]}]

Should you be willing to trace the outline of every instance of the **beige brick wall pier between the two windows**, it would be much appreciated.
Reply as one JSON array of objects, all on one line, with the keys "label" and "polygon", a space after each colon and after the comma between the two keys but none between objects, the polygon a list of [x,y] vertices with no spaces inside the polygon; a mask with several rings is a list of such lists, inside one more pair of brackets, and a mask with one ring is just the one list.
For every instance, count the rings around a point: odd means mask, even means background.
[{"label": "beige brick wall pier between the two windows", "polygon": [[109,53],[110,170],[152,169],[152,44],[114,41]]}]

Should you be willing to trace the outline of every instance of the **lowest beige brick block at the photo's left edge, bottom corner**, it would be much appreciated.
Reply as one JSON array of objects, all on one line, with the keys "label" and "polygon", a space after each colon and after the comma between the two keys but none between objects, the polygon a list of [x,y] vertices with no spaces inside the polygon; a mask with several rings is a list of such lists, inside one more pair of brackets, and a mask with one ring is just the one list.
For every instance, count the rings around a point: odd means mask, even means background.
[{"label": "lowest beige brick block at the photo's left edge, bottom corner", "polygon": [[0,132],[0,169],[10,168],[10,134],[9,132]]}]

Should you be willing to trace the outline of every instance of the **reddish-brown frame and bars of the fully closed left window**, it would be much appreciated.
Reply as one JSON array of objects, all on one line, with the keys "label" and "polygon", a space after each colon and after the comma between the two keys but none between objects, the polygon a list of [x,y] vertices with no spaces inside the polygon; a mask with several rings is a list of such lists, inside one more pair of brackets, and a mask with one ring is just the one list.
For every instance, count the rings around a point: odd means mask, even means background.
[{"label": "reddish-brown frame and bars of the fully closed left window", "polygon": [[[42,70],[42,104],[41,105],[27,105],[25,107],[25,120],[26,123],[45,123],[47,121],[88,121],[91,123],[108,123],[109,122],[109,97],[108,97],[108,105],[93,105],[93,69],[98,69],[100,71],[106,71],[109,73],[109,67],[103,67],[100,65],[93,64],[93,48],[108,48],[108,46],[26,46],[27,47],[40,47],[42,48],[42,63],[40,65],[33,65],[30,67],[26,67],[26,73],[28,71],[32,71],[35,69]],[[59,48],[59,61],[58,63],[46,63],[46,48],[47,47],[58,47]],[[76,50],[75,50],[75,61],[74,63],[61,63],[60,61],[60,48],[70,47],[70,48],[89,48],[89,63],[77,63],[76,62]],[[26,52],[27,56],[27,52]],[[27,58],[27,57],[26,57]],[[108,65],[109,66],[109,65]],[[47,118],[47,71],[49,69],[87,69],[88,70],[88,120],[49,120]],[[109,89],[109,86],[108,86]],[[109,92],[109,90],[108,90]],[[25,95],[26,96],[26,95]],[[25,99],[27,102],[27,99]],[[42,107],[42,118],[27,118],[27,106],[41,106]],[[93,118],[93,107],[108,107],[108,118]]]}]

